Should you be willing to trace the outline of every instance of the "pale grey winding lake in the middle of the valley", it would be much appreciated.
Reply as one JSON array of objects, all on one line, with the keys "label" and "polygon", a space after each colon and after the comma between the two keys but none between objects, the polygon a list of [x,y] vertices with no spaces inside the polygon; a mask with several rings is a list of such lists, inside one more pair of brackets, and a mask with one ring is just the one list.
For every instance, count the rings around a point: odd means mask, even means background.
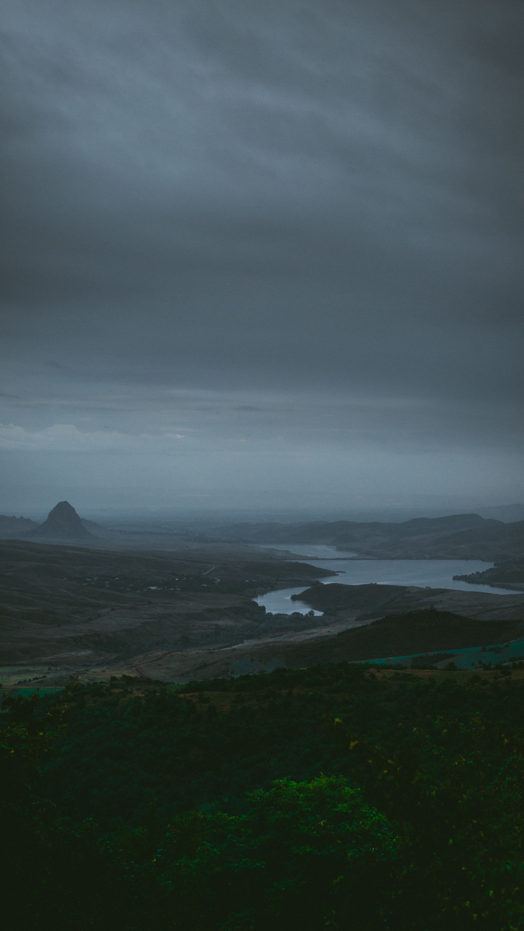
[{"label": "pale grey winding lake in the middle of the valley", "polygon": [[[264,546],[265,549],[283,550],[283,546]],[[338,575],[319,579],[323,585],[334,582],[342,585],[416,585],[421,588],[454,588],[459,591],[483,591],[492,595],[515,595],[511,588],[496,588],[487,585],[469,585],[455,582],[453,575],[469,575],[490,569],[492,562],[480,560],[359,560],[356,553],[341,553],[335,546],[288,545],[291,553],[302,557],[303,562],[319,569],[332,569]],[[352,559],[353,557],[353,559]],[[310,606],[302,601],[292,601],[291,596],[305,591],[300,588],[280,588],[259,595],[255,601],[264,605],[271,614],[308,614]],[[315,611],[315,614],[322,614]]]}]

